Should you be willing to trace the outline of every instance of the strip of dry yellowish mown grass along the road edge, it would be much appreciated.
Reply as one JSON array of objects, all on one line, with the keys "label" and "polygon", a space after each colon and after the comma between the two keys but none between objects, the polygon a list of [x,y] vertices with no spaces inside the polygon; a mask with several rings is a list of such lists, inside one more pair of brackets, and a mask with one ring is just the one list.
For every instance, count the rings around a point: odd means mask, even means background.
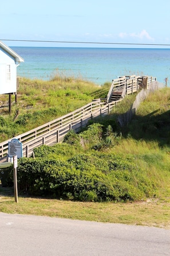
[{"label": "strip of dry yellowish mown grass along the road edge", "polygon": [[0,197],[0,211],[11,214],[41,215],[57,218],[123,223],[170,228],[170,200],[136,203],[93,203],[56,199]]}]

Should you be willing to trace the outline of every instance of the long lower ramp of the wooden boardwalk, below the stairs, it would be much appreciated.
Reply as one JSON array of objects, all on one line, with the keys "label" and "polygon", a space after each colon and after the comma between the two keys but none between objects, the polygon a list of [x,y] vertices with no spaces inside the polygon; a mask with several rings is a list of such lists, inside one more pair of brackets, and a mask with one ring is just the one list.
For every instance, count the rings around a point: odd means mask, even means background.
[{"label": "long lower ramp of the wooden boardwalk, below the stairs", "polygon": [[[117,102],[105,104],[100,99],[93,100],[93,102],[78,108],[72,113],[45,123],[45,125],[41,125],[26,133],[17,135],[15,138],[19,142],[22,142],[23,156],[29,157],[34,148],[41,145],[53,145],[62,141],[70,129],[76,132],[79,131],[82,127],[86,126],[89,119],[108,114],[116,104]],[[11,139],[0,143],[0,158],[7,156],[8,143]]]}]

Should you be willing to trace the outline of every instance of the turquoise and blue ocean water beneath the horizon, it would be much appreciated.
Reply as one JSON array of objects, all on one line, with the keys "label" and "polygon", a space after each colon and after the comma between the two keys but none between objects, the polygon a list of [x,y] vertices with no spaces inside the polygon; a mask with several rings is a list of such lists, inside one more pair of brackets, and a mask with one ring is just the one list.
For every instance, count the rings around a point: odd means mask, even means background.
[{"label": "turquoise and blue ocean water beneath the horizon", "polygon": [[[72,76],[102,85],[117,76],[148,75],[165,83],[170,75],[170,49],[11,47],[25,62],[17,75],[49,80]],[[169,81],[168,81],[169,83]]]}]

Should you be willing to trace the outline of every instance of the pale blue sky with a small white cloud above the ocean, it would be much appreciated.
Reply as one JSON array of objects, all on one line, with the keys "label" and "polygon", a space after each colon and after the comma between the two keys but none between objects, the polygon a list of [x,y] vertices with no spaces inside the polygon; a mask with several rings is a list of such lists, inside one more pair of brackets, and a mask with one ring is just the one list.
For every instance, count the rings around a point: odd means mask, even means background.
[{"label": "pale blue sky with a small white cloud above the ocean", "polygon": [[7,0],[0,40],[8,46],[170,48],[169,11],[169,0]]}]

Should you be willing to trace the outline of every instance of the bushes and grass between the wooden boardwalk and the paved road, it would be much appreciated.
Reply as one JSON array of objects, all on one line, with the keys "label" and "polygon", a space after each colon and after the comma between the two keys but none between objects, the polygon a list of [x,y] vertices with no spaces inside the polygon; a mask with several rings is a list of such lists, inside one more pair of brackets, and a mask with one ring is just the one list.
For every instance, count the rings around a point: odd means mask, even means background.
[{"label": "bushes and grass between the wooden boardwalk and the paved road", "polygon": [[149,95],[121,129],[117,116],[133,100],[79,134],[69,131],[63,143],[34,149],[35,158],[21,158],[19,203],[2,197],[0,210],[169,228],[170,90]]}]

